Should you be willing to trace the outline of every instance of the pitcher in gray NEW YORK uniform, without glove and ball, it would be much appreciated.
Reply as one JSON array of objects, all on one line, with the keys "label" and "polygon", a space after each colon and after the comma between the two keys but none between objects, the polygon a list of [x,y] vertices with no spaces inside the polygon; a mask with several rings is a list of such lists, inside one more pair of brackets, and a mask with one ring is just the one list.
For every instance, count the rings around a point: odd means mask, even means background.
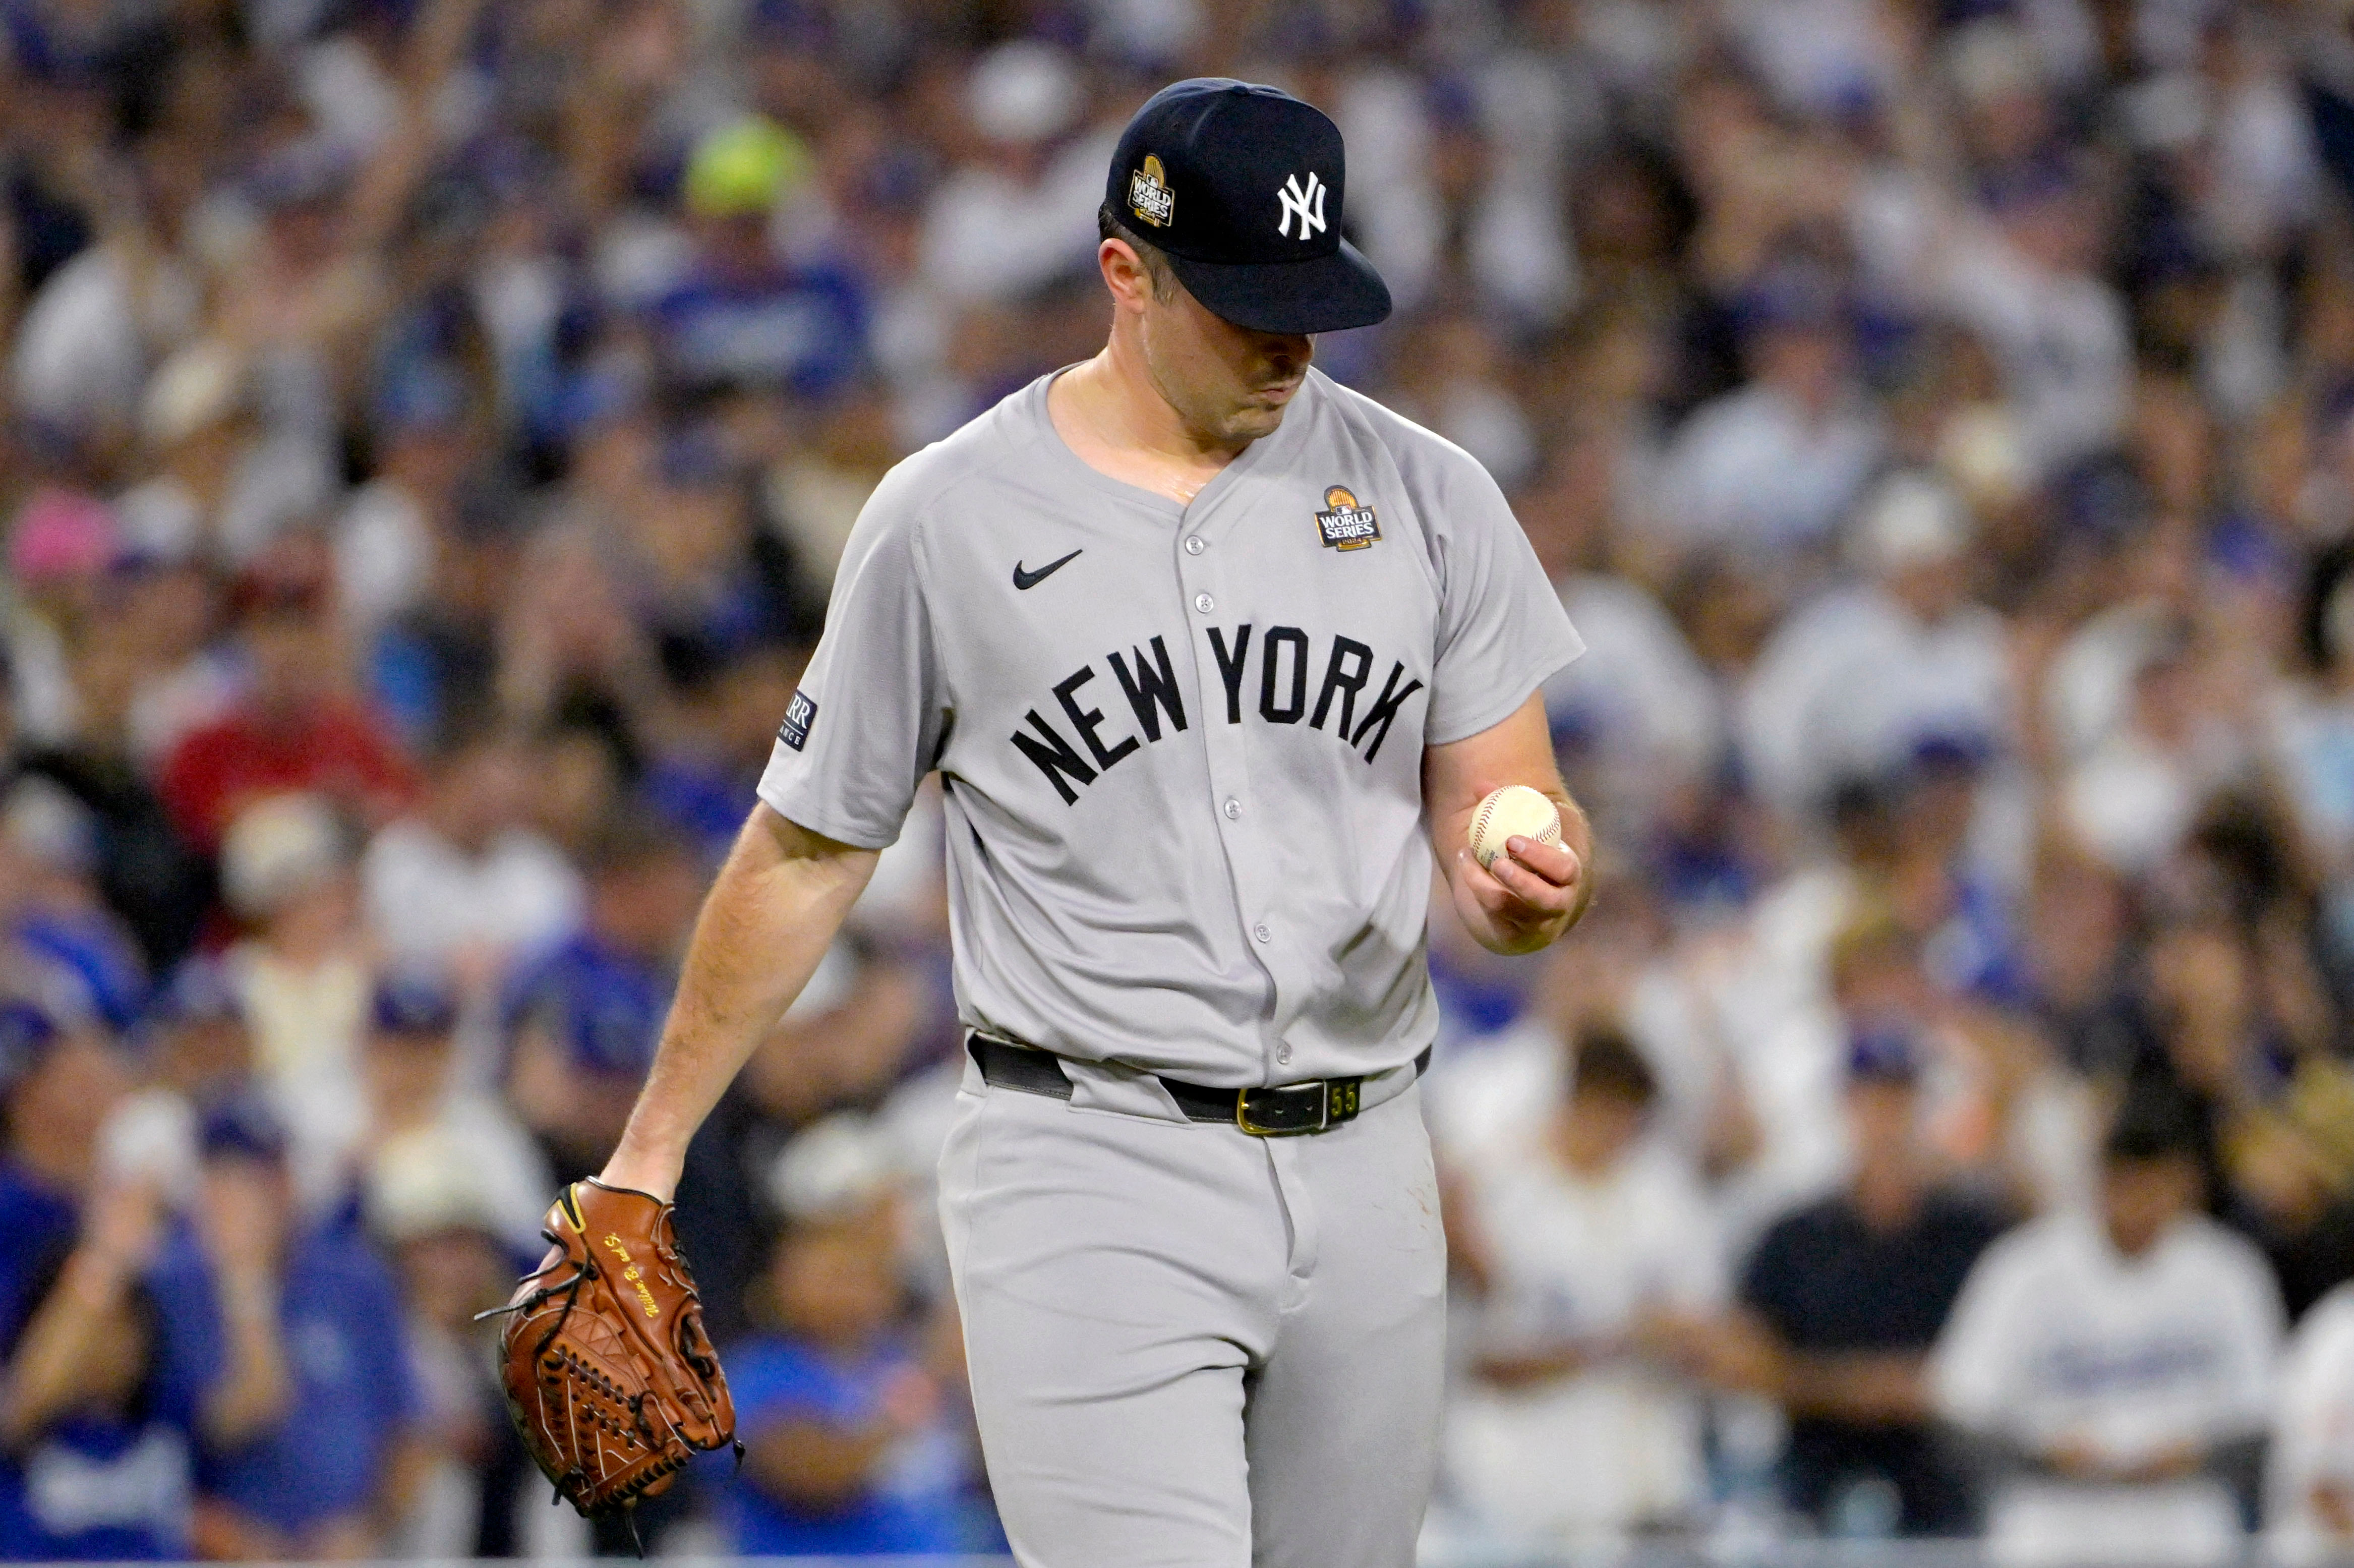
[{"label": "pitcher in gray NEW YORK uniform, without glove and ball", "polygon": [[[1405,1568],[1445,1250],[1431,855],[1497,951],[1582,913],[1537,685],[1580,640],[1462,450],[1309,370],[1382,320],[1342,141],[1177,82],[1121,139],[1095,360],[899,464],[704,906],[617,1187],[669,1196],[939,772],[967,1041],[942,1220],[1026,1568]],[[1563,845],[1481,869],[1532,784]]]}]

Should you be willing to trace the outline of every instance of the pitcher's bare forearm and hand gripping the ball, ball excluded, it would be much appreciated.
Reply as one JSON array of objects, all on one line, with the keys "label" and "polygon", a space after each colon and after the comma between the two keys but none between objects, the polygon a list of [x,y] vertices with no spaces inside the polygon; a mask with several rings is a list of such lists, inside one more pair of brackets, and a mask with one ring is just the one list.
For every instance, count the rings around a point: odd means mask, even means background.
[{"label": "pitcher's bare forearm and hand gripping the ball, ball excluded", "polygon": [[[1528,784],[1561,810],[1561,848],[1511,838],[1490,866],[1471,857],[1471,812],[1490,791]],[[1530,695],[1511,718],[1422,753],[1422,803],[1431,848],[1445,869],[1455,911],[1492,954],[1532,954],[1577,925],[1594,897],[1587,866],[1594,829],[1554,763],[1544,699]]]}]

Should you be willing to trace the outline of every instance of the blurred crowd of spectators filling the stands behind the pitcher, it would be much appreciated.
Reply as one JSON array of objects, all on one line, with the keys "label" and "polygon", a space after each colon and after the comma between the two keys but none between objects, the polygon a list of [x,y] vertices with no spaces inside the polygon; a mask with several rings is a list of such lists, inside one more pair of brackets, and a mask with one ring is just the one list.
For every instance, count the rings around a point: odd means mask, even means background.
[{"label": "blurred crowd of spectators filling the stands behind the pitcher", "polygon": [[[1591,645],[1591,918],[1434,918],[1434,1554],[2354,1544],[2342,5],[0,0],[0,1554],[629,1549],[471,1318],[1191,73],[1339,120],[1318,363]],[[654,1549],[1000,1542],[939,878],[694,1144],[749,1460]]]}]

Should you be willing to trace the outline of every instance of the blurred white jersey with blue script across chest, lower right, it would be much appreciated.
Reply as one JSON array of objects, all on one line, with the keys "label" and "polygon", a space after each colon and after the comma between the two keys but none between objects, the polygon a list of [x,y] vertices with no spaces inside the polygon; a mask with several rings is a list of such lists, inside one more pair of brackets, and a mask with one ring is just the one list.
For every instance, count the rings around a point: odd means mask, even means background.
[{"label": "blurred white jersey with blue script across chest, lower right", "polygon": [[[2086,1210],[1996,1241],[1963,1285],[1933,1358],[1942,1413],[2024,1450],[2086,1443],[2114,1464],[2175,1443],[2265,1429],[2281,1297],[2262,1253],[2206,1217],[2121,1257]],[[2210,1479],[2095,1486],[2022,1479],[1996,1490],[2001,1563],[2210,1563],[2239,1547],[2239,1509]]]}]

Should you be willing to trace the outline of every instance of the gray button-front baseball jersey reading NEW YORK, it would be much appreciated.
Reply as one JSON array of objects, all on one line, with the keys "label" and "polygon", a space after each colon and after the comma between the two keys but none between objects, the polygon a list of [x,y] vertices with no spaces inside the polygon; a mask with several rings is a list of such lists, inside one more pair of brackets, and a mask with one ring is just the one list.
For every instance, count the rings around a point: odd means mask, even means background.
[{"label": "gray button-front baseball jersey reading NEW YORK", "polygon": [[1210,1085],[1431,1043],[1422,749],[1582,643],[1495,480],[1309,372],[1189,506],[1043,377],[885,476],[760,798],[862,848],[946,786],[970,1026]]}]

